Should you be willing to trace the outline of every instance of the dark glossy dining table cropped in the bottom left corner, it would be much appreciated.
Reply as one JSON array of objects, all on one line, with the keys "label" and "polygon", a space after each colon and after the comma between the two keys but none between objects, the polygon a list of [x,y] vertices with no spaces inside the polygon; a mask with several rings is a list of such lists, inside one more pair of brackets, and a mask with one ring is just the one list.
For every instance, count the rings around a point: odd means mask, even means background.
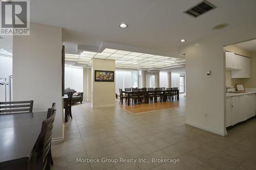
[{"label": "dark glossy dining table cropped in the bottom left corner", "polygon": [[0,115],[0,169],[28,169],[47,112]]}]

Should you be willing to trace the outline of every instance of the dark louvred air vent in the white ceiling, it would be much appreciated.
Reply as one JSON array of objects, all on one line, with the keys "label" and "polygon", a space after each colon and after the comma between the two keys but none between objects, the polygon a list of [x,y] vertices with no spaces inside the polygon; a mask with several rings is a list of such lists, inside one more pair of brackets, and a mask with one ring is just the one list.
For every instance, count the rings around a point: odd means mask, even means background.
[{"label": "dark louvred air vent in the white ceiling", "polygon": [[198,17],[206,12],[209,12],[210,10],[213,10],[215,8],[216,8],[216,6],[212,5],[208,1],[202,1],[201,3],[188,9],[184,13],[196,18],[196,17]]}]

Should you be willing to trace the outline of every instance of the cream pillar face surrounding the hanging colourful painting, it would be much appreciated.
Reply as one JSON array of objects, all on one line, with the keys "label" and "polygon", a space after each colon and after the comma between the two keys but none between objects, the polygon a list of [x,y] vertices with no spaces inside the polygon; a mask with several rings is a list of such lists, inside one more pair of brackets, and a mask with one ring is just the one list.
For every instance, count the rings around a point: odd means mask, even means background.
[{"label": "cream pillar face surrounding the hanging colourful painting", "polygon": [[[115,106],[115,82],[95,82],[94,70],[115,71],[114,60],[92,61],[92,108]],[[115,78],[116,80],[116,78]]]}]

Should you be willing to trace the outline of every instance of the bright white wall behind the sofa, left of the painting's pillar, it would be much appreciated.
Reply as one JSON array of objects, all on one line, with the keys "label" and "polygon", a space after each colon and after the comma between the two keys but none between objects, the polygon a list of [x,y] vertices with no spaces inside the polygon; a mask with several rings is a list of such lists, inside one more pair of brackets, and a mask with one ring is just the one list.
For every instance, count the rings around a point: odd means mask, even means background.
[{"label": "bright white wall behind the sofa, left of the painting's pillar", "polygon": [[68,87],[77,92],[83,91],[82,67],[65,66],[65,88]]}]

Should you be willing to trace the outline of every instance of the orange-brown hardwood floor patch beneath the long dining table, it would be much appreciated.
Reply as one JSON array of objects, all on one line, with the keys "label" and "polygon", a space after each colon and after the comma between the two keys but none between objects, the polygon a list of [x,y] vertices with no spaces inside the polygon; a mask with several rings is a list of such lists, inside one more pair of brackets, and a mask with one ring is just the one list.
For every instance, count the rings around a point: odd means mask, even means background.
[{"label": "orange-brown hardwood floor patch beneath the long dining table", "polygon": [[179,101],[174,100],[171,102],[170,101],[168,101],[168,102],[158,101],[157,103],[149,103],[149,104],[139,104],[139,105],[131,104],[130,106],[127,106],[127,104],[125,104],[125,100],[123,100],[123,105],[119,104],[119,99],[116,100],[116,102],[117,102],[117,106],[120,106],[122,109],[129,111],[131,113],[134,113],[134,114],[186,106],[185,94],[180,94]]}]

